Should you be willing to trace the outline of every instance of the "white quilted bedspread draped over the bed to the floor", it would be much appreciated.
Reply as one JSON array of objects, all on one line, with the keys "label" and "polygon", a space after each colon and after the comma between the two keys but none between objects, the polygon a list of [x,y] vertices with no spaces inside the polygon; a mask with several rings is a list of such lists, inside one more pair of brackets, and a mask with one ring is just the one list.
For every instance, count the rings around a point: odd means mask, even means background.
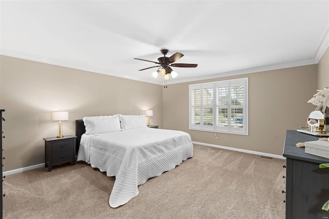
[{"label": "white quilted bedspread draped over the bed to the floor", "polygon": [[109,205],[116,208],[138,195],[138,185],[174,169],[193,156],[190,134],[140,128],[81,136],[78,161],[85,161],[116,180]]}]

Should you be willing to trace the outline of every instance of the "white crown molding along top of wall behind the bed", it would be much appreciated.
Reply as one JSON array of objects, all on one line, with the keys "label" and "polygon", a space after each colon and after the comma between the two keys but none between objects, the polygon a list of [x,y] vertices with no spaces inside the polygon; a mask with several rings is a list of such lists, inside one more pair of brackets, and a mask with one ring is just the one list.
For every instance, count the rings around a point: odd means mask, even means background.
[{"label": "white crown molding along top of wall behind the bed", "polygon": [[53,59],[53,58],[49,58],[49,57],[45,57],[45,56],[41,56],[41,55],[35,55],[35,54],[31,54],[31,53],[26,53],[26,52],[21,52],[21,51],[14,51],[14,50],[1,48],[0,54],[15,57],[15,58],[23,58],[23,59],[27,59],[30,61],[40,62],[40,63],[46,63],[46,64],[51,64],[51,65],[67,67],[67,68],[79,69],[79,70],[83,70],[83,71],[95,72],[95,73],[100,73],[100,74],[116,76],[116,77],[122,77],[122,78],[126,78],[126,79],[131,79],[134,81],[162,85],[162,82],[157,82],[152,79],[142,79],[142,78],[138,78],[138,77],[132,77],[130,75],[124,75],[122,73],[115,72],[115,71],[110,71],[110,70],[96,68],[96,67],[87,66],[87,65],[81,65],[81,64],[77,64],[77,63],[70,63],[70,62],[60,60],[60,59]]}]

